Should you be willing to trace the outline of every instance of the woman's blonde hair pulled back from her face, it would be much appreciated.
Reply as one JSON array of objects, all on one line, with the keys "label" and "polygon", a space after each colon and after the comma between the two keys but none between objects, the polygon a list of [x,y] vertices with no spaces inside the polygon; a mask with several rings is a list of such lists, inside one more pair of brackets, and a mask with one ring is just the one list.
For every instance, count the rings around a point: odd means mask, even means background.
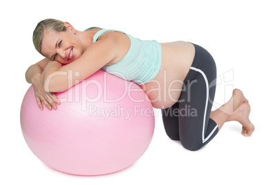
[{"label": "woman's blonde hair pulled back from her face", "polygon": [[43,39],[43,33],[45,28],[50,28],[57,32],[64,32],[66,27],[64,26],[63,21],[57,19],[44,19],[37,24],[37,27],[34,28],[32,35],[32,42],[34,43],[34,48],[42,55],[41,53],[41,43]]}]

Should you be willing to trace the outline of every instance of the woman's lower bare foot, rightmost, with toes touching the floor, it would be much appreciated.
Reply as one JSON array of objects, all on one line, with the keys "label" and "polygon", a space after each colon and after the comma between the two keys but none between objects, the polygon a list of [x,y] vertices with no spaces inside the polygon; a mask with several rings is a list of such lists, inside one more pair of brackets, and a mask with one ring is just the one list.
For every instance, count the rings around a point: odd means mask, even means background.
[{"label": "woman's lower bare foot, rightmost, with toes touching the floor", "polygon": [[255,130],[254,125],[249,120],[250,114],[250,106],[248,103],[243,103],[236,108],[234,111],[234,115],[232,115],[233,119],[240,122],[243,125],[242,135],[245,137],[250,137]]}]

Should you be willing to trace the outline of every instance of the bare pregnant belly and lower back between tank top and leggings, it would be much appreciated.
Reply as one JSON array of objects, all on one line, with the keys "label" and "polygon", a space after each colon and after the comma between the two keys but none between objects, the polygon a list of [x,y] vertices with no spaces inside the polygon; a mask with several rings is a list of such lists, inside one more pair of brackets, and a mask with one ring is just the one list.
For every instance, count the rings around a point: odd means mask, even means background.
[{"label": "bare pregnant belly and lower back between tank top and leggings", "polygon": [[194,59],[192,43],[161,43],[162,65],[152,81],[141,85],[154,108],[168,108],[178,101],[183,82]]}]

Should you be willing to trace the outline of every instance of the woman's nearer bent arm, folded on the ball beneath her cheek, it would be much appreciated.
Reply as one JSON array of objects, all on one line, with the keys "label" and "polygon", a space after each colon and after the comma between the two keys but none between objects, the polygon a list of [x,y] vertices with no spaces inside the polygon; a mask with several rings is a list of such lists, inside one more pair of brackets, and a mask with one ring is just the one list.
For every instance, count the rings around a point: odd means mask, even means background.
[{"label": "woman's nearer bent arm, folded on the ball beneath her cheek", "polygon": [[90,77],[119,56],[119,41],[116,37],[100,39],[92,43],[79,59],[65,66],[61,66],[57,61],[49,61],[42,74],[44,90],[62,92]]}]

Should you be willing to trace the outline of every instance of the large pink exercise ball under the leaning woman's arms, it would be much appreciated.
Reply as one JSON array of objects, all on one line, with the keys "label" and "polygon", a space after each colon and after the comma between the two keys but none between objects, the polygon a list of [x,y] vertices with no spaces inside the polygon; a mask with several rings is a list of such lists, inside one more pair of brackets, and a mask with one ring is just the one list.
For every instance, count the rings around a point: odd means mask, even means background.
[{"label": "large pink exercise ball under the leaning woman's arms", "polygon": [[99,70],[56,95],[56,110],[40,110],[30,86],[20,117],[25,142],[51,168],[74,175],[114,173],[132,166],[150,145],[152,104],[132,81]]}]

